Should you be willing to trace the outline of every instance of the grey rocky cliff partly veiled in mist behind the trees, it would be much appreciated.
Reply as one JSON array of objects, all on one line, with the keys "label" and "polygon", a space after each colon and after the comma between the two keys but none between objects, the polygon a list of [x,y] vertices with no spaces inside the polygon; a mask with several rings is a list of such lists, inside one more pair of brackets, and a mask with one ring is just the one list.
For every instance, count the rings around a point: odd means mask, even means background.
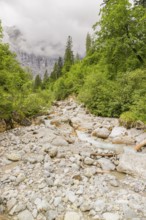
[{"label": "grey rocky cliff partly veiled in mist behind the trees", "polygon": [[50,74],[56,58],[48,57],[43,53],[41,42],[38,45],[41,48],[40,51],[36,51],[15,26],[4,27],[4,42],[10,45],[10,49],[16,53],[18,61],[23,67],[31,71],[34,77],[37,74],[43,77],[46,70]]}]

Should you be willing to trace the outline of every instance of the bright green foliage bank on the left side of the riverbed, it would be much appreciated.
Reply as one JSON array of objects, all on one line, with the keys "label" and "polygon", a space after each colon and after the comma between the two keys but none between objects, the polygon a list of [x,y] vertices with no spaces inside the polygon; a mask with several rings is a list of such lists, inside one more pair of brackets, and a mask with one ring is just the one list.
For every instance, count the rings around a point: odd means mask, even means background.
[{"label": "bright green foliage bank on the left side of the riverbed", "polygon": [[40,89],[40,77],[37,76],[33,83],[30,74],[15,60],[15,54],[10,52],[9,46],[0,41],[0,118],[9,120],[14,113],[23,118],[43,111],[45,106],[50,105],[52,93]]}]

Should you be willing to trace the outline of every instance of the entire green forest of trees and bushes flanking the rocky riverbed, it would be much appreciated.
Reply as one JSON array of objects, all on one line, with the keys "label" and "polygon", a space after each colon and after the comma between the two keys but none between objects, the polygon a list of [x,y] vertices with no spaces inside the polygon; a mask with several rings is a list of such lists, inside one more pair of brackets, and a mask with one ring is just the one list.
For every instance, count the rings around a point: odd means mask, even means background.
[{"label": "entire green forest of trees and bushes flanking the rocky riverbed", "polygon": [[0,118],[19,122],[73,95],[95,115],[127,127],[146,123],[146,1],[105,0],[93,30],[84,58],[74,55],[69,36],[51,75],[33,80],[2,43],[0,25]]}]

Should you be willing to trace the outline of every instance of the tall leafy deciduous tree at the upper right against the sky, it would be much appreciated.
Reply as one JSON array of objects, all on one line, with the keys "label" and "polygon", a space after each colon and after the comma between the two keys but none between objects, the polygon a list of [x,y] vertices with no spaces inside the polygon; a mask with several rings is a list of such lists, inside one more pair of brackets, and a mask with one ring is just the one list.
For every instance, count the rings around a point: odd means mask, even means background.
[{"label": "tall leafy deciduous tree at the upper right against the sky", "polygon": [[110,0],[101,10],[101,20],[94,26],[95,47],[108,72],[135,69],[146,58],[144,8],[133,7],[128,0]]}]

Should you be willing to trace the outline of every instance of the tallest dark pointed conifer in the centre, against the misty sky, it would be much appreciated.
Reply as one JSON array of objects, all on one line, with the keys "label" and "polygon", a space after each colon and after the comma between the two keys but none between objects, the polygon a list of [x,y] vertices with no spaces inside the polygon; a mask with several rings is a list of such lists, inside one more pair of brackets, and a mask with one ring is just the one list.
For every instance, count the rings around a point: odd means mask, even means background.
[{"label": "tallest dark pointed conifer in the centre, against the misty sky", "polygon": [[74,55],[72,51],[72,38],[71,36],[68,36],[65,55],[64,55],[63,72],[69,72],[73,64],[74,64]]}]

